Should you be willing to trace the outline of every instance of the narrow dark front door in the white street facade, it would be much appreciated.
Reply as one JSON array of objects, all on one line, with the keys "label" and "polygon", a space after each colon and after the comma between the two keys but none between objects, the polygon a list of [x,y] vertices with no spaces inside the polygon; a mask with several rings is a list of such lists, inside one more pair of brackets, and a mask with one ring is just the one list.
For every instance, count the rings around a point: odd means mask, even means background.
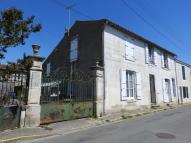
[{"label": "narrow dark front door in the white street facade", "polygon": [[150,78],[151,103],[156,104],[155,76],[150,74],[149,78]]}]

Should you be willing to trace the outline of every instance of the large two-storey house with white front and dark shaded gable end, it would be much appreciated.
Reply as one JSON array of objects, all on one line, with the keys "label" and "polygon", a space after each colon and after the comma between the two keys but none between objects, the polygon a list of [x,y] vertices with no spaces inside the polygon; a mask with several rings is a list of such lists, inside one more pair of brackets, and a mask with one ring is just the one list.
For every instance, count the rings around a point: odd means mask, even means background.
[{"label": "large two-storey house with white front and dark shaded gable end", "polygon": [[102,114],[178,103],[175,60],[171,51],[110,20],[76,21],[44,62],[43,73],[89,74],[98,61]]}]

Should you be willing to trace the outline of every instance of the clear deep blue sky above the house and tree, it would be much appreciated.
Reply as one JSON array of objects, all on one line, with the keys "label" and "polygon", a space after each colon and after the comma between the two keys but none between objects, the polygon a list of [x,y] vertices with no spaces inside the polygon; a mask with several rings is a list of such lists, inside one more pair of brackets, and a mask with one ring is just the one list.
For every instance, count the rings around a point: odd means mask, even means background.
[{"label": "clear deep blue sky above the house and tree", "polygon": [[[65,6],[70,5],[69,25]],[[76,20],[109,19],[191,64],[191,0],[0,0],[0,11],[10,7],[25,17],[34,15],[42,30],[31,34],[24,46],[9,48],[1,63],[32,54],[33,44],[41,46],[40,55],[46,58]]]}]

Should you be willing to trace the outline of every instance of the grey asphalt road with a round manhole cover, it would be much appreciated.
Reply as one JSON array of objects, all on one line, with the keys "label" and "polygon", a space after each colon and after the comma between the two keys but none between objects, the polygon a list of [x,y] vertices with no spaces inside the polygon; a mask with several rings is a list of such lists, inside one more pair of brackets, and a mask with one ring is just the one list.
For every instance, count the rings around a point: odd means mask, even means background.
[{"label": "grey asphalt road with a round manhole cover", "polygon": [[191,143],[191,107],[181,107],[32,143]]}]

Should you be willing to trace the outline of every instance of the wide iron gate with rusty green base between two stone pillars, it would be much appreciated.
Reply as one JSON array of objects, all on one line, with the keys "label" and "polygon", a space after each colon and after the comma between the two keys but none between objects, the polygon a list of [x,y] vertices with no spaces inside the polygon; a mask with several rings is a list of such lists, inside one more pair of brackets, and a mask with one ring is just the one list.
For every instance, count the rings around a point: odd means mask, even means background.
[{"label": "wide iron gate with rusty green base between two stone pillars", "polygon": [[41,89],[41,124],[94,115],[92,79],[43,78]]}]

